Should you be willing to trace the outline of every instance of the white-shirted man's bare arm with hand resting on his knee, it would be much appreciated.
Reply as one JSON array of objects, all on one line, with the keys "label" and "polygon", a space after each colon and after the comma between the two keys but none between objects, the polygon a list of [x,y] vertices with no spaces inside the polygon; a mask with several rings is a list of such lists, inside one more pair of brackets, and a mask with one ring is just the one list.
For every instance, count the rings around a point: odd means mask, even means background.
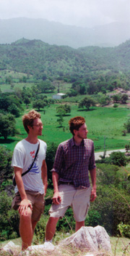
[{"label": "white-shirted man's bare arm with hand resting on his knee", "polygon": [[19,212],[22,215],[24,214],[24,212],[25,214],[27,214],[27,208],[30,207],[30,209],[32,209],[32,204],[30,204],[30,201],[28,201],[27,195],[25,192],[24,184],[22,181],[22,168],[14,167],[14,175],[17,183],[17,188],[22,199],[19,207]]}]

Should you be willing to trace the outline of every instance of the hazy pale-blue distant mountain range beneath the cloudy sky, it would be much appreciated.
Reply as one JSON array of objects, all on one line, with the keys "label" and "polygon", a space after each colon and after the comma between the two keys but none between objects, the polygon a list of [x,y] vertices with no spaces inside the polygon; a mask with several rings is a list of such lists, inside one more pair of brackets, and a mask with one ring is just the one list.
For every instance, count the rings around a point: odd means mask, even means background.
[{"label": "hazy pale-blue distant mountain range beneath the cloudy sky", "polygon": [[0,44],[21,38],[72,48],[115,47],[130,39],[130,23],[110,23],[95,28],[80,28],[44,19],[12,18],[0,20]]}]

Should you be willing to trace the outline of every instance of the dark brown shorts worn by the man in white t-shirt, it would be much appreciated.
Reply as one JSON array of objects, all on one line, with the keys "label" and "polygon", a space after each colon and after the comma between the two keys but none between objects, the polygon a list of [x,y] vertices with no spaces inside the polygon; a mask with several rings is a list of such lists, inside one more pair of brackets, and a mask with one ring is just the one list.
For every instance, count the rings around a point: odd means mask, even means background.
[{"label": "dark brown shorts worn by the man in white t-shirt", "polygon": [[[40,215],[44,212],[45,201],[44,194],[35,191],[26,191],[27,199],[32,204],[32,220],[38,221],[40,219]],[[21,196],[20,193],[17,192],[12,201],[12,209],[17,210],[20,207]]]}]

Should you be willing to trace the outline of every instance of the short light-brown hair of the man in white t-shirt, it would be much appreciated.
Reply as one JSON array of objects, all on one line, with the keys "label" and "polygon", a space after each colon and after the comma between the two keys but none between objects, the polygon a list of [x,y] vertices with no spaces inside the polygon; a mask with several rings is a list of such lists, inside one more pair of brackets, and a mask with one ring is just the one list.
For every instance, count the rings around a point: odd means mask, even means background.
[{"label": "short light-brown hair of the man in white t-shirt", "polygon": [[27,133],[29,133],[29,129],[27,126],[32,127],[34,119],[40,119],[40,113],[38,113],[34,109],[32,109],[32,111],[29,111],[28,113],[25,113],[25,115],[22,116],[22,123]]}]

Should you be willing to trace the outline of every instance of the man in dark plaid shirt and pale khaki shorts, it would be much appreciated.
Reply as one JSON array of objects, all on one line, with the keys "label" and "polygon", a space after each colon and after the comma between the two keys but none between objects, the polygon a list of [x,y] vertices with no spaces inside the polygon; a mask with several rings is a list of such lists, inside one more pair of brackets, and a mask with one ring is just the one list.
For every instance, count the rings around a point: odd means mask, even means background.
[{"label": "man in dark plaid shirt and pale khaki shorts", "polygon": [[70,206],[76,221],[75,231],[84,226],[90,201],[96,198],[94,143],[87,139],[84,118],[76,116],[70,119],[69,129],[73,137],[58,145],[53,164],[53,204],[49,210],[45,241],[52,241],[58,219],[64,217]]}]

